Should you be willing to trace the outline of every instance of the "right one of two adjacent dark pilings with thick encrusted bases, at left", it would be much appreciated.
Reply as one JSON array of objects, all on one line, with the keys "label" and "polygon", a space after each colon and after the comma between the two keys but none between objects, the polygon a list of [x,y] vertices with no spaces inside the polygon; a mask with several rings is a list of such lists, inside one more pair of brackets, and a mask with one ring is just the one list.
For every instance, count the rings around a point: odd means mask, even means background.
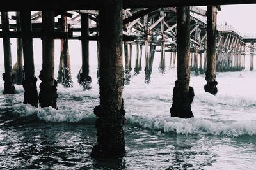
[{"label": "right one of two adjacent dark pilings with thick encrusted bases, at left", "polygon": [[[54,11],[42,11],[42,28],[44,32],[54,31]],[[43,66],[39,78],[39,103],[41,107],[57,108],[57,81],[54,80],[54,39],[42,38]]]}]

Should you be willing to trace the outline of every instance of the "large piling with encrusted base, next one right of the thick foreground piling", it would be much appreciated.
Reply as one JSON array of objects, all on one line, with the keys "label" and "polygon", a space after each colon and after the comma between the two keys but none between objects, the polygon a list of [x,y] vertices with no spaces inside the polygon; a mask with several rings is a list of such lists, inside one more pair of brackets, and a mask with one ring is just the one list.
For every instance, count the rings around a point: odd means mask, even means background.
[{"label": "large piling with encrusted base, next one right of the thick foreground piling", "polygon": [[172,117],[191,118],[191,103],[195,96],[189,86],[190,70],[190,13],[189,6],[177,7],[177,77],[173,88]]}]

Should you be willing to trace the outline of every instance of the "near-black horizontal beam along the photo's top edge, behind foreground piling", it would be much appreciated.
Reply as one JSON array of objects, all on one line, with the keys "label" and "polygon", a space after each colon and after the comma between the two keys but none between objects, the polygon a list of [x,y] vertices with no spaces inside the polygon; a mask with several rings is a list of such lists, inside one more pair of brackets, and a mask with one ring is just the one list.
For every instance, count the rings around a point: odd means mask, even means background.
[{"label": "near-black horizontal beam along the photo's top edge, behind foreground piling", "polygon": [[[13,3],[6,1],[1,4],[0,11],[45,11],[45,10],[97,10],[102,0],[79,1],[73,0],[63,2],[61,0],[51,1],[51,5],[47,1],[28,1],[26,3]],[[255,0],[124,0],[123,8],[160,8],[170,6],[207,6],[207,5],[225,5],[225,4],[256,4]],[[139,12],[138,12],[139,13]]]}]

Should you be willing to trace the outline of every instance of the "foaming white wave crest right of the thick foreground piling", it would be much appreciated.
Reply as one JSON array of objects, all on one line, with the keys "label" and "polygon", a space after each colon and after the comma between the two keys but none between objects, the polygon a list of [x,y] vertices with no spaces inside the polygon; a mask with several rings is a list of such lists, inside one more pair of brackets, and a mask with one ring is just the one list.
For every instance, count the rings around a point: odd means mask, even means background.
[{"label": "foaming white wave crest right of the thick foreground piling", "polygon": [[128,115],[128,124],[139,124],[141,127],[157,129],[177,134],[212,134],[212,135],[255,135],[256,120],[218,121],[202,118],[173,118],[173,117],[140,117]]}]

